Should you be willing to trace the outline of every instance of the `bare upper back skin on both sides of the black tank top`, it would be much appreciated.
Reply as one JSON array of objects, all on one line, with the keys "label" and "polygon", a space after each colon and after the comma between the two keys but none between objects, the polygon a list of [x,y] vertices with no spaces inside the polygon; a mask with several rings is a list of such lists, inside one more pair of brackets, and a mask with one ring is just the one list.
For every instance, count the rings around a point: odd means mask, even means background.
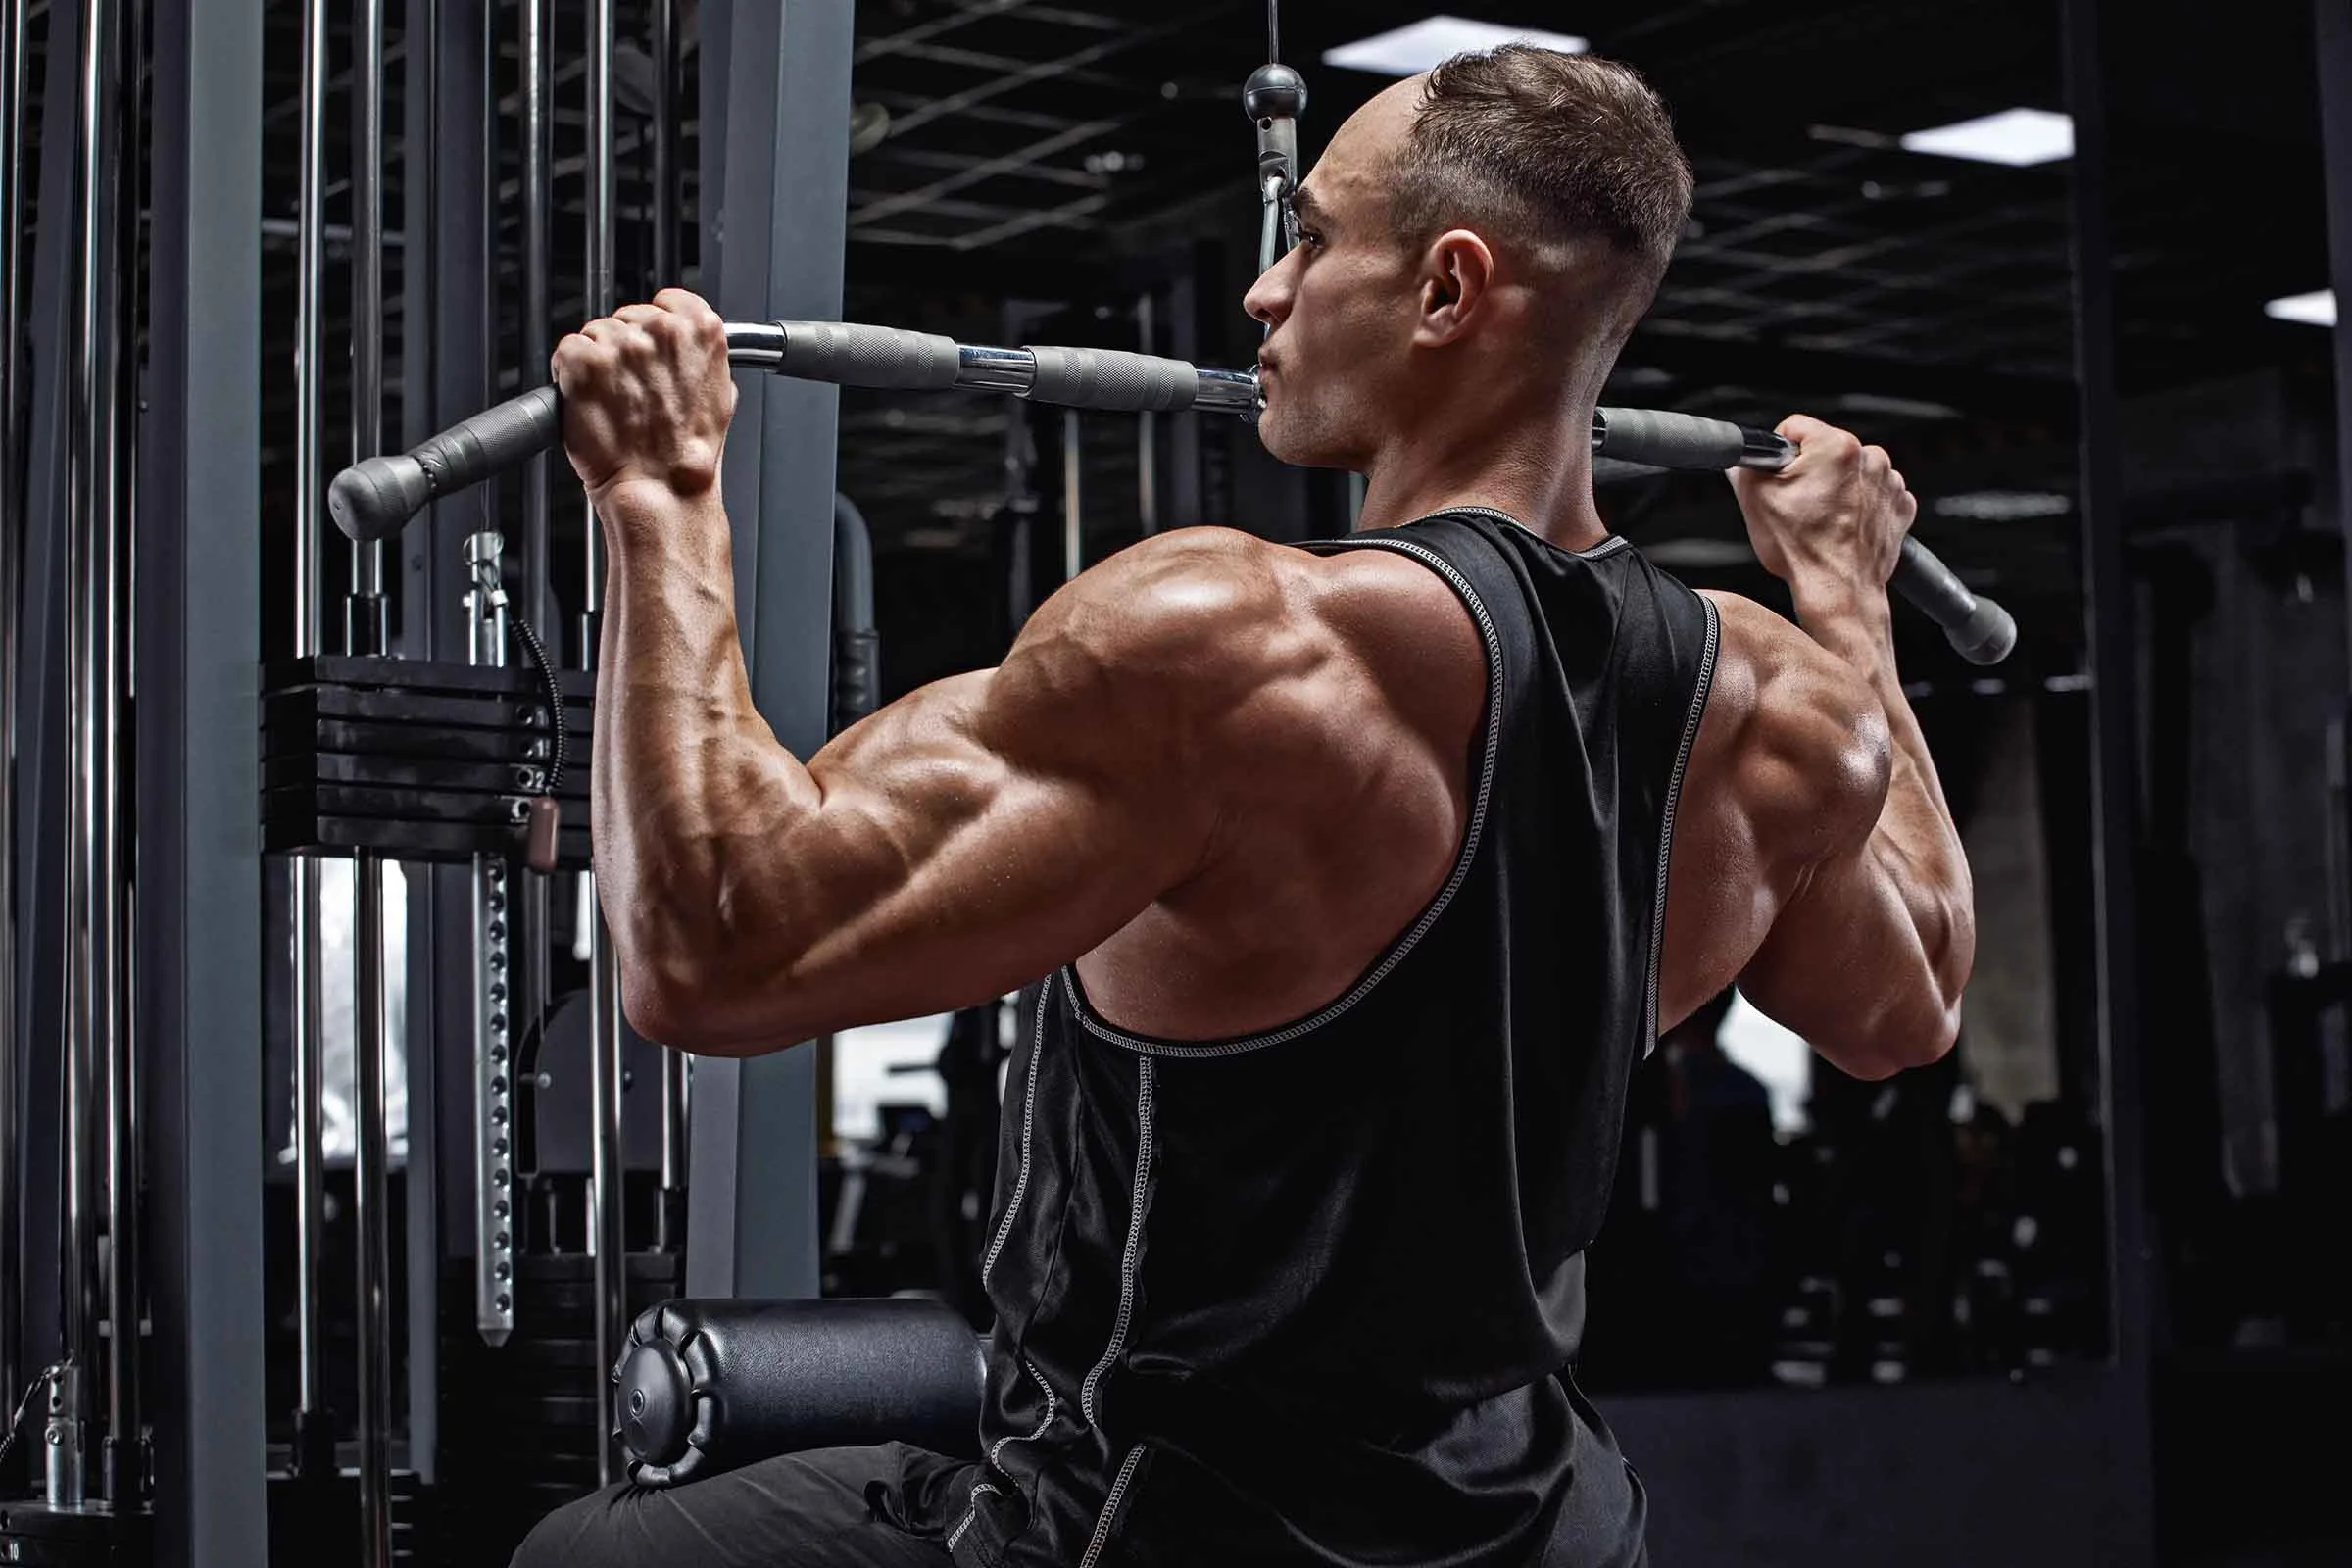
[{"label": "bare upper back skin on both sides of the black tank top", "polygon": [[[1145,1034],[1277,1027],[1338,994],[1444,884],[1477,785],[1486,646],[1444,578],[1392,550],[1312,555],[1225,529],[1148,550],[1162,559],[1138,576],[1228,585],[1192,597],[1218,599],[1207,614],[1258,649],[1263,684],[1216,741],[1235,764],[1211,858],[1077,973]],[[1752,842],[1759,717],[1783,738],[1780,818],[1837,823],[1884,795],[1867,691],[1771,611],[1708,597],[1722,670],[1682,788],[1661,1030],[1738,978],[1762,945],[1755,912],[1785,891]]]}]

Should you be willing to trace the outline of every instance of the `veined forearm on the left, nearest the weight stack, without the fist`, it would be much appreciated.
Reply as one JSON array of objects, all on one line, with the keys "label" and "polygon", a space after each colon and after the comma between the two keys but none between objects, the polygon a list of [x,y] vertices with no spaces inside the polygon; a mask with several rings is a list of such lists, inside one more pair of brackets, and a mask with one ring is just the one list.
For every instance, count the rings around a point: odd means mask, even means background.
[{"label": "veined forearm on the left, nearest the weight stack, without the fist", "polygon": [[597,510],[597,893],[642,1011],[659,1011],[722,938],[729,844],[786,832],[818,788],[753,708],[717,489],[633,484]]}]

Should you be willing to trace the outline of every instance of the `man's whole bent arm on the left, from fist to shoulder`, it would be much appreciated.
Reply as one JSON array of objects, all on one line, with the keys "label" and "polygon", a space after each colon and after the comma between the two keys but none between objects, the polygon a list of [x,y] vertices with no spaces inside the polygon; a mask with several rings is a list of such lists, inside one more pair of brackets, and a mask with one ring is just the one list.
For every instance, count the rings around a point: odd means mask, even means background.
[{"label": "man's whole bent arm on the left, from fist to shoulder", "polygon": [[736,1056],[967,1006],[1200,867],[1204,731],[1263,646],[1240,625],[1268,609],[1251,541],[1138,545],[1040,607],[1000,668],[804,764],[753,708],[736,635],[717,317],[666,294],[567,339],[555,367],[609,541],[595,870],[642,1032]]}]

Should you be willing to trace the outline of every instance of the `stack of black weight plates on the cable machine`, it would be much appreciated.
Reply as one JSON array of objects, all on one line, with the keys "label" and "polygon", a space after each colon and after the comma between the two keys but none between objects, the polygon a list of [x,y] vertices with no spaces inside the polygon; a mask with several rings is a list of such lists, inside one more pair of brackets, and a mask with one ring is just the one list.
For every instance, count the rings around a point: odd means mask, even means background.
[{"label": "stack of black weight plates on the cable machine", "polygon": [[[595,675],[560,670],[557,867],[588,867]],[[318,654],[263,668],[261,839],[268,853],[473,863],[522,858],[546,792],[553,719],[529,665]]]}]

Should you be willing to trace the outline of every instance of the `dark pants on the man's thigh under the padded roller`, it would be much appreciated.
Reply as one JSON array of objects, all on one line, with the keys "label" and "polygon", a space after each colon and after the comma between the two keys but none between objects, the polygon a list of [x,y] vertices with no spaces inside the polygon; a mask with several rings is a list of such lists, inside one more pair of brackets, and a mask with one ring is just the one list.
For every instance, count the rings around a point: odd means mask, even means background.
[{"label": "dark pants on the man's thigh under the padded roller", "polygon": [[607,1486],[548,1514],[513,1568],[943,1568],[978,1469],[884,1443]]}]

